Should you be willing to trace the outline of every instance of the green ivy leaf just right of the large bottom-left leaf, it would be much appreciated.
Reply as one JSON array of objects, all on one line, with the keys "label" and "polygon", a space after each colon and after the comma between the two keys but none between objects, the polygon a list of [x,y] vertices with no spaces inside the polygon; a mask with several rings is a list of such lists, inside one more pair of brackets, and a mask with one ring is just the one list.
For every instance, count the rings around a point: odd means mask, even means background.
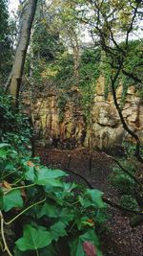
[{"label": "green ivy leaf just right of the large bottom-left leaf", "polygon": [[67,236],[65,227],[66,227],[66,224],[62,221],[58,221],[58,222],[54,223],[53,225],[51,225],[52,239],[57,242],[60,237]]}]

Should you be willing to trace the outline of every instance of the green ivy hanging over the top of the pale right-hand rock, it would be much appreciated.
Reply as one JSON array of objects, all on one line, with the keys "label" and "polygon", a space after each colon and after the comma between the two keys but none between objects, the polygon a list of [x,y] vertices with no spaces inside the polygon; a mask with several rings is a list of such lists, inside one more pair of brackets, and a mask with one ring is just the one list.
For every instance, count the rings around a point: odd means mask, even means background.
[{"label": "green ivy hanging over the top of the pale right-hand rock", "polygon": [[[122,51],[125,51],[125,42],[121,42],[119,47]],[[128,53],[124,63],[124,70],[129,74],[133,74],[134,77],[142,80],[142,41],[140,40],[131,40],[129,41]],[[101,72],[105,77],[105,97],[108,96],[108,93],[111,91],[110,79],[112,76],[113,69],[111,68],[111,62],[114,62],[114,65],[117,65],[118,57],[115,56],[114,59],[109,54],[104,55],[102,57],[101,63]],[[122,84],[122,99],[120,105],[123,106],[127,91],[129,86],[134,85],[136,91],[138,91],[138,95],[141,95],[142,85],[140,82],[136,82],[133,78],[128,77],[124,74],[124,71],[121,71],[116,83],[115,87],[117,88],[119,84]]]}]

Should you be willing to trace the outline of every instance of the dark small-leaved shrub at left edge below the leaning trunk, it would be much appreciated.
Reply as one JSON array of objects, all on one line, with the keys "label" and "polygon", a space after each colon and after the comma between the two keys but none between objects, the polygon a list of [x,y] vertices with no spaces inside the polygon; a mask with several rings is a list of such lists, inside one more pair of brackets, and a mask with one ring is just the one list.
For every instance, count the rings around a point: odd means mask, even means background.
[{"label": "dark small-leaved shrub at left edge below the leaning trunk", "polygon": [[17,151],[31,150],[31,126],[22,109],[15,110],[12,97],[0,93],[0,141],[10,143]]}]

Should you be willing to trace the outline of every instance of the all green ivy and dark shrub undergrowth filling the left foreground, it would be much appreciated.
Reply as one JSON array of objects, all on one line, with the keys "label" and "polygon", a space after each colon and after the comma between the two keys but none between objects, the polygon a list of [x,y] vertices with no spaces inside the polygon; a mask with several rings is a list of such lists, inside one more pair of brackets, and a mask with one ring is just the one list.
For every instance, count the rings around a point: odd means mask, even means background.
[{"label": "all green ivy and dark shrub undergrowth filling the left foreground", "polygon": [[101,256],[103,193],[66,183],[65,172],[31,158],[31,128],[11,105],[9,96],[0,97],[1,253],[85,256],[88,243]]}]

